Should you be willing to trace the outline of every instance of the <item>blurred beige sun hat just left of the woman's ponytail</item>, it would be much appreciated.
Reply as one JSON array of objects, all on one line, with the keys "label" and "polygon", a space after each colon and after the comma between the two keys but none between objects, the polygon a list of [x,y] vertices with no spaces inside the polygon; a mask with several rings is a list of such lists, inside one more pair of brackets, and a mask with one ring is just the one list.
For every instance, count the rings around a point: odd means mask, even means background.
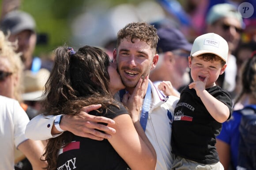
[{"label": "blurred beige sun hat just left of the woman's ponytail", "polygon": [[50,75],[49,70],[40,69],[38,72],[24,71],[24,93],[23,101],[40,101],[46,81]]}]

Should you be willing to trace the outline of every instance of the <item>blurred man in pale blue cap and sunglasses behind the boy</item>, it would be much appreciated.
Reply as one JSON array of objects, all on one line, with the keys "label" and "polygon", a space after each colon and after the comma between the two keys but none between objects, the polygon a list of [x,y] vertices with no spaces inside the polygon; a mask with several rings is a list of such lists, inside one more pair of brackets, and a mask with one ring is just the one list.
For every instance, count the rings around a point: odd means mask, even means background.
[{"label": "blurred man in pale blue cap and sunglasses behind the boy", "polygon": [[233,52],[237,48],[243,32],[242,16],[232,4],[216,4],[207,13],[206,25],[207,33],[216,33],[228,42],[228,66],[225,73],[219,76],[217,83],[223,89],[233,92],[236,87],[237,76],[236,57]]}]

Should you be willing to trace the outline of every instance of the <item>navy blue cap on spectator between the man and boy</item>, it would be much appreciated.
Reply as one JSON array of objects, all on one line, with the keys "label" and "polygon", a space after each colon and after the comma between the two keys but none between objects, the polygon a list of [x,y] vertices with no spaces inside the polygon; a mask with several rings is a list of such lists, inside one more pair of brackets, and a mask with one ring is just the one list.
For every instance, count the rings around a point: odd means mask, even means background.
[{"label": "navy blue cap on spectator between the man and boy", "polygon": [[163,27],[158,29],[159,41],[157,44],[158,53],[183,49],[191,51],[192,44],[188,42],[180,30],[173,27]]}]

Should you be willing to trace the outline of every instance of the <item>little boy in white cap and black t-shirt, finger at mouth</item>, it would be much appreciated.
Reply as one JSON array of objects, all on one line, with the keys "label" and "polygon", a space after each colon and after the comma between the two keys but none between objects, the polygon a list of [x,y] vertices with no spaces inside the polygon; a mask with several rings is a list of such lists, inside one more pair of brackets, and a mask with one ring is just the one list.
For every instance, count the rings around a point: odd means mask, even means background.
[{"label": "little boy in white cap and black t-shirt, finger at mouth", "polygon": [[[181,167],[182,170],[224,170],[219,162],[215,137],[222,123],[231,116],[232,99],[215,81],[225,71],[227,57],[228,44],[218,34],[203,34],[193,43],[188,57],[193,82],[181,92],[174,110],[173,170]],[[168,89],[160,90],[168,92]]]}]

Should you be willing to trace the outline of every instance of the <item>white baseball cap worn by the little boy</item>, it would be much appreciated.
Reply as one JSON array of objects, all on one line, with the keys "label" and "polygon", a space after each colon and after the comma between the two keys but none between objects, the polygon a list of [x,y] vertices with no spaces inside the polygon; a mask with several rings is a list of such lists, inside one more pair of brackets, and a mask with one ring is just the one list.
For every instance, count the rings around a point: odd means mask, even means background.
[{"label": "white baseball cap worn by the little boy", "polygon": [[190,55],[196,57],[201,54],[211,53],[227,61],[229,46],[226,40],[215,33],[206,33],[198,36],[192,46]]}]

